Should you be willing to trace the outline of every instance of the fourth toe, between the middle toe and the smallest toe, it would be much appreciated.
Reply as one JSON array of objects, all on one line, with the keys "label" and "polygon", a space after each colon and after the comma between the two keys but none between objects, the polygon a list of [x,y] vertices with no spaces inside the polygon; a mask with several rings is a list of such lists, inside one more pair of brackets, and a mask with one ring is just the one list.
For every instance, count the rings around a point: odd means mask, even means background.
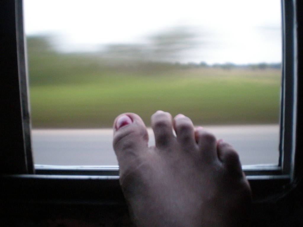
[{"label": "fourth toe, between the middle toe and the smallest toe", "polygon": [[197,127],[195,129],[195,140],[198,143],[203,160],[209,163],[218,160],[217,140],[212,133],[202,127]]}]

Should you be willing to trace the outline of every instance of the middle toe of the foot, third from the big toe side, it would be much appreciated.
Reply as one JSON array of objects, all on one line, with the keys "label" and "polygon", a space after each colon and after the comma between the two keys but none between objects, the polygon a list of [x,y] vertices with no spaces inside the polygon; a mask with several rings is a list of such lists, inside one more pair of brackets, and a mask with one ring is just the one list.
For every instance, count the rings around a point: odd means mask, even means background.
[{"label": "middle toe of the foot, third from the big toe side", "polygon": [[183,114],[178,114],[174,118],[174,129],[179,145],[186,150],[194,150],[196,143],[194,125],[191,120]]}]

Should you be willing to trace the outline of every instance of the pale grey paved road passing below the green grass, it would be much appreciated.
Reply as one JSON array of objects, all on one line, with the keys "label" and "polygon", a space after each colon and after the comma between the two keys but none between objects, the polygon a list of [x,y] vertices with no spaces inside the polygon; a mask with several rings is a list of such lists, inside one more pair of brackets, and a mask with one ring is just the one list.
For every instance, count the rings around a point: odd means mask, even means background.
[{"label": "pale grey paved road passing below the green grass", "polygon": [[[231,143],[243,165],[278,163],[278,125],[205,127]],[[149,129],[150,142],[154,136]],[[112,148],[112,129],[32,130],[35,164],[117,165]]]}]

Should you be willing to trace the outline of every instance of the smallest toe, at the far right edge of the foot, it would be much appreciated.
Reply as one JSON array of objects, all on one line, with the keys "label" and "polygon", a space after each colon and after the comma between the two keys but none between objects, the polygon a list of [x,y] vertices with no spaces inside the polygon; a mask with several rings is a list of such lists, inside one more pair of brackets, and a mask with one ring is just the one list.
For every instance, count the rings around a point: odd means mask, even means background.
[{"label": "smallest toe, at the far right edge of the foot", "polygon": [[218,158],[234,176],[243,176],[238,153],[234,148],[223,140],[218,140]]}]

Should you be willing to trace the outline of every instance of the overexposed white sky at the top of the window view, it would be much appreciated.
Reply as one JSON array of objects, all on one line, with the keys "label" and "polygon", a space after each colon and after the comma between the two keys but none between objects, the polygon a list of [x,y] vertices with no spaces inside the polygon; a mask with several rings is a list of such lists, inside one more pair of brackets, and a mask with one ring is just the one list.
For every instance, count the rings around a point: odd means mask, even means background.
[{"label": "overexposed white sky at the top of the window view", "polygon": [[188,26],[207,45],[182,61],[281,62],[280,0],[24,0],[25,33],[56,34],[65,51],[144,42]]}]

